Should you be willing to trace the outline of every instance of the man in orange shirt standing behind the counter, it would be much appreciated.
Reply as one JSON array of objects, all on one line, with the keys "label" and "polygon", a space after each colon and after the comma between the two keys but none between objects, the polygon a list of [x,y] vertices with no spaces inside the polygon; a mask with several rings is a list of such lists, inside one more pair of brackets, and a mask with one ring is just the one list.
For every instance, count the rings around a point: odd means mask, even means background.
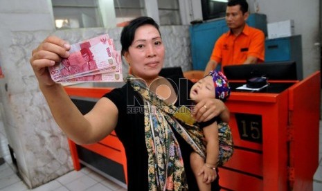
[{"label": "man in orange shirt standing behind the counter", "polygon": [[264,62],[265,35],[262,30],[246,24],[249,17],[246,0],[230,0],[226,8],[226,23],[229,31],[216,42],[205,75],[216,69],[231,64],[253,64]]}]

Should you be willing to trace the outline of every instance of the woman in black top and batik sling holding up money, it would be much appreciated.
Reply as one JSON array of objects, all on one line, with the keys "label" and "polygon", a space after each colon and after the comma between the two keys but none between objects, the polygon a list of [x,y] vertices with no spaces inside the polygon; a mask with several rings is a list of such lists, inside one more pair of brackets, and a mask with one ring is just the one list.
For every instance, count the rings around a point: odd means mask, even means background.
[{"label": "woman in black top and batik sling holding up money", "polygon": [[[123,28],[120,41],[133,75],[123,87],[98,100],[84,116],[64,88],[51,80],[47,69],[62,57],[69,57],[69,44],[47,37],[35,48],[30,64],[53,117],[78,144],[96,143],[115,130],[127,156],[128,190],[198,190],[189,164],[191,140],[198,140],[194,134],[181,131],[172,118],[175,107],[190,103],[187,93],[192,82],[177,76],[159,76],[165,48],[159,26],[150,17],[131,21]],[[229,120],[222,101],[204,99],[195,106],[193,117],[197,121],[215,116]],[[219,190],[218,179],[212,189]]]}]

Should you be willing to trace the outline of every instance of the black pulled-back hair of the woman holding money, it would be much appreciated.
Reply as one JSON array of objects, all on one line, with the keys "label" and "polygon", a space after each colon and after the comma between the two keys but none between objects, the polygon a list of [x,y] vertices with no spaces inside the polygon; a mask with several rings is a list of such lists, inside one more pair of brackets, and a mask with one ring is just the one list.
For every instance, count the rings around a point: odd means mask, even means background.
[{"label": "black pulled-back hair of the woman holding money", "polygon": [[122,51],[120,53],[122,55],[124,55],[125,52],[129,51],[129,46],[131,46],[134,40],[136,29],[145,24],[154,26],[159,31],[159,34],[161,36],[159,25],[156,24],[154,19],[152,19],[151,17],[138,17],[136,19],[133,19],[132,21],[129,21],[129,24],[123,28],[122,33],[120,34],[120,44],[122,45]]}]

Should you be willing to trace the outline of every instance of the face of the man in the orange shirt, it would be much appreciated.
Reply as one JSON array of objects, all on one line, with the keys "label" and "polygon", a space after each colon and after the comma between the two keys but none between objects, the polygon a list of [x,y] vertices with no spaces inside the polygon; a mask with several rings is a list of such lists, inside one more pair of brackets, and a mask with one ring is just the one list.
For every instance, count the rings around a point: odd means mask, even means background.
[{"label": "face of the man in the orange shirt", "polygon": [[240,5],[227,6],[226,8],[226,23],[230,29],[242,28],[248,18],[249,13],[242,14]]}]

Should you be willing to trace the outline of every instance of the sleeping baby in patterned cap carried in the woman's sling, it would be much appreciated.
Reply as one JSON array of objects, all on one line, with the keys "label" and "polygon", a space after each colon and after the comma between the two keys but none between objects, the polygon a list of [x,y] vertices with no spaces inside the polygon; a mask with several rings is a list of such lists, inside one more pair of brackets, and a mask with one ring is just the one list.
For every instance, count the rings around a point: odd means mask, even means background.
[{"label": "sleeping baby in patterned cap carried in the woman's sling", "polygon": [[[190,98],[195,103],[204,98],[217,98],[225,101],[230,93],[231,89],[226,76],[220,71],[211,71],[193,85]],[[199,190],[211,190],[210,183],[217,177],[217,165],[228,161],[233,152],[231,131],[228,125],[223,124],[219,117],[207,122],[199,122],[199,127],[203,129],[206,139],[206,161],[197,152],[190,155],[190,165],[196,176]],[[224,131],[229,131],[228,136]],[[226,137],[221,137],[223,134]],[[227,156],[224,153],[230,155]]]}]

